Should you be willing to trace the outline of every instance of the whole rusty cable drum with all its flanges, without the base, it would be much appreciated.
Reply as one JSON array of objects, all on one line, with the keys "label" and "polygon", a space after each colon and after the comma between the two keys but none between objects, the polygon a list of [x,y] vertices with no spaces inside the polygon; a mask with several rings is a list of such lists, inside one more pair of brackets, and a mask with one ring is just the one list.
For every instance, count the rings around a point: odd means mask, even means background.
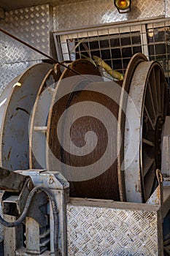
[{"label": "whole rusty cable drum with all its flanges, without the base", "polygon": [[[30,69],[37,77],[24,73],[1,94],[2,167],[28,167],[30,121],[29,166],[63,173],[71,196],[145,202],[154,187],[155,169],[161,168],[161,135],[169,111],[161,65],[137,53],[122,87],[105,82],[88,60],[69,67],[51,79],[51,65],[36,65]],[[36,88],[30,91],[34,79]],[[41,136],[36,140],[35,135]]]}]

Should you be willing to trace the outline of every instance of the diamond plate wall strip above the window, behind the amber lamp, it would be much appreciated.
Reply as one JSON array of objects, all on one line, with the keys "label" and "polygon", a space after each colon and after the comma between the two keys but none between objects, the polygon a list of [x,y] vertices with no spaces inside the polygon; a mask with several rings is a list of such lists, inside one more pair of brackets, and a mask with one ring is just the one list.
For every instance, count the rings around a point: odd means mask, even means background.
[{"label": "diamond plate wall strip above the window, behind the amber lamp", "polygon": [[68,30],[163,15],[165,15],[165,2],[163,0],[132,1],[131,12],[125,14],[120,14],[117,11],[113,0],[77,1],[54,7],[54,30]]}]

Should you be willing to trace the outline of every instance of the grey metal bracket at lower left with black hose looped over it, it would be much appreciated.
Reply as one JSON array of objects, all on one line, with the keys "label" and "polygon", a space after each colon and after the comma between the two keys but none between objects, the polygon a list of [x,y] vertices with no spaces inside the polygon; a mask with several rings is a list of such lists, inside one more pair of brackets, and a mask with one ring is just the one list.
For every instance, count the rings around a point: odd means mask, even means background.
[{"label": "grey metal bracket at lower left with black hose looped over it", "polygon": [[[15,236],[15,243],[12,242],[14,234],[17,234],[18,227],[13,227],[12,229],[5,227],[5,255],[7,255],[9,252],[9,247],[10,256],[54,255],[54,237],[56,232],[58,234],[58,236],[56,236],[58,252],[60,255],[66,255],[66,204],[69,202],[68,181],[66,181],[61,173],[47,172],[46,170],[20,170],[18,171],[18,174],[30,176],[34,187],[41,185],[49,189],[54,195],[57,206],[56,211],[58,211],[58,230],[54,230],[55,225],[53,219],[53,210],[51,204],[47,201],[47,195],[45,195],[44,192],[38,192],[33,197],[31,207],[29,208],[27,217],[25,219],[26,241],[23,241],[23,243],[26,244],[26,246],[24,247],[23,245],[20,245],[18,239],[21,240],[21,238],[17,235]],[[28,184],[24,188],[27,189]],[[6,206],[8,206],[8,210],[10,210],[7,211],[6,209],[5,213],[9,214],[10,216],[5,214],[5,218],[14,218],[14,213],[12,212],[14,203],[15,208],[21,209],[23,208],[23,202],[26,203],[26,197],[23,196],[23,194],[22,196],[15,195],[13,198],[11,196],[5,198],[3,201],[4,209],[7,208]],[[24,236],[22,239],[25,239]],[[48,245],[50,245],[50,251],[47,249]]]}]

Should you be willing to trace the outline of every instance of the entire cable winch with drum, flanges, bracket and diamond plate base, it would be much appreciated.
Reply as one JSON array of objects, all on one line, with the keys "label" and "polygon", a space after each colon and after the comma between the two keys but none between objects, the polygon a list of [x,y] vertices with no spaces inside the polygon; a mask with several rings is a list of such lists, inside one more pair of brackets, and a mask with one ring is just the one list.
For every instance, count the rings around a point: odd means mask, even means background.
[{"label": "entire cable winch with drum, flanges, bracket and diamond plate base", "polygon": [[36,64],[0,102],[4,255],[170,254],[157,61],[137,53],[123,81],[104,81],[88,59]]}]

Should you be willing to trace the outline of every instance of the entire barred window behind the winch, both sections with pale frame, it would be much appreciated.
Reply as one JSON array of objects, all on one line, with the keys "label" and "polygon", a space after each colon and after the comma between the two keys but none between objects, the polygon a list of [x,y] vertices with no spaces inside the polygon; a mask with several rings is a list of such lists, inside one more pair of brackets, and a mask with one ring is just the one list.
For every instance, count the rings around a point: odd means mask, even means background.
[{"label": "entire barred window behind the winch, both sections with pale frame", "polygon": [[141,52],[149,60],[157,60],[161,63],[167,82],[170,84],[169,19],[146,20],[140,24],[137,22],[112,24],[107,28],[58,32],[54,36],[60,60],[74,61],[98,56],[109,65],[110,69],[115,69],[124,75],[131,56]]}]

